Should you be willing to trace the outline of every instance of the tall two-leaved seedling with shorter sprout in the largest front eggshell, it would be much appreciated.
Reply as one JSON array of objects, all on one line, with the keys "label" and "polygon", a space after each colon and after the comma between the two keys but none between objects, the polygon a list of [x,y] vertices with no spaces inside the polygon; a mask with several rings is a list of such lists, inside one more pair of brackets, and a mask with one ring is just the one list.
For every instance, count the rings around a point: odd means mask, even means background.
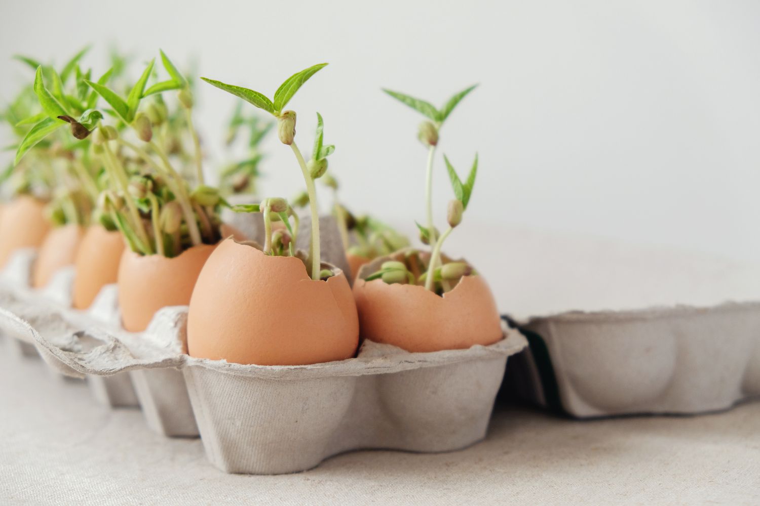
[{"label": "tall two-leaved seedling with shorter sprout in the largest front eggshell", "polygon": [[298,165],[301,168],[303,179],[306,182],[306,192],[309,195],[309,209],[312,217],[312,237],[311,244],[309,246],[309,256],[311,259],[311,269],[309,269],[307,262],[307,269],[312,279],[318,280],[321,276],[321,259],[319,251],[319,212],[317,207],[317,194],[315,190],[315,179],[321,177],[327,168],[327,156],[334,150],[334,146],[323,146],[322,137],[324,125],[319,114],[317,124],[317,134],[315,136],[315,149],[312,153],[312,158],[307,164],[304,160],[300,149],[298,148],[296,137],[296,112],[285,110],[285,106],[290,102],[290,99],[296,94],[299,88],[309,80],[314,74],[325,68],[326,63],[316,64],[312,67],[306,68],[300,72],[296,72],[292,76],[288,77],[283,82],[277,91],[274,92],[274,98],[269,99],[264,94],[258,91],[249,90],[241,86],[233,86],[231,84],[222,83],[217,80],[207,79],[201,77],[207,83],[216,86],[220,90],[224,90],[227,93],[249,102],[250,104],[258,107],[269,114],[273,115],[277,119],[277,137],[280,138],[280,142],[290,146],[293,150],[293,154],[296,156]]}]

